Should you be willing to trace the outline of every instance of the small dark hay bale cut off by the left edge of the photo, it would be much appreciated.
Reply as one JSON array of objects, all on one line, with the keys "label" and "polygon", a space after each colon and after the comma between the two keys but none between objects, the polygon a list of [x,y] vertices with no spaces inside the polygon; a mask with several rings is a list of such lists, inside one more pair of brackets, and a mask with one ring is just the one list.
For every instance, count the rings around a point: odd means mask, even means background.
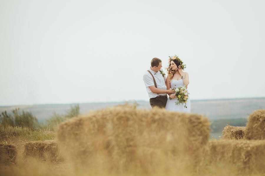
[{"label": "small dark hay bale cut off by the left edge of the photo", "polygon": [[14,145],[0,144],[0,164],[16,163],[17,151]]}]

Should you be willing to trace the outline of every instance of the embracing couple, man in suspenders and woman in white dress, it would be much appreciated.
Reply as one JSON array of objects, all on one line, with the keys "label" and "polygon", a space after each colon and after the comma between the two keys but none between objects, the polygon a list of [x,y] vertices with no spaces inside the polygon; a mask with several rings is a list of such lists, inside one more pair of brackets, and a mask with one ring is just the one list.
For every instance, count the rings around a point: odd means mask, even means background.
[{"label": "embracing couple, man in suspenders and woman in white dress", "polygon": [[[150,105],[165,108],[169,111],[190,112],[191,101],[187,89],[189,75],[183,72],[186,65],[178,56],[170,56],[166,67],[168,76],[162,71],[162,61],[155,57],[151,67],[143,75]],[[169,97],[167,96],[169,95]]]}]

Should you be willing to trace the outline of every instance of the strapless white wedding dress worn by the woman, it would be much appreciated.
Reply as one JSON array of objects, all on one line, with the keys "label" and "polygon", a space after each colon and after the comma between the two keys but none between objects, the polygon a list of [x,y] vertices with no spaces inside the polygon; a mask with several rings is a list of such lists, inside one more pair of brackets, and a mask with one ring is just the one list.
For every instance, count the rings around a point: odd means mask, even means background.
[{"label": "strapless white wedding dress worn by the woman", "polygon": [[[180,79],[180,80],[172,79],[170,82],[170,85],[171,85],[171,89],[174,87],[185,86],[182,79]],[[178,98],[174,98],[174,99],[170,100],[168,97],[168,101],[167,101],[165,109],[167,109],[169,111],[191,112],[190,94],[188,96],[188,101],[186,103],[187,108],[184,107],[185,104],[176,105],[176,103],[175,103],[176,101],[178,101]]]}]

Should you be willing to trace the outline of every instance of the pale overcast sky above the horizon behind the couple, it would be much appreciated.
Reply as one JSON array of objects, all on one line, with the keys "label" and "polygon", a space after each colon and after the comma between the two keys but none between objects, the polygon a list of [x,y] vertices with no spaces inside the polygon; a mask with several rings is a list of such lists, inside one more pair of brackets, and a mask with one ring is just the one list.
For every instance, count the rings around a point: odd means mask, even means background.
[{"label": "pale overcast sky above the horizon behind the couple", "polygon": [[0,106],[149,101],[158,57],[191,100],[265,97],[265,1],[0,0]]}]

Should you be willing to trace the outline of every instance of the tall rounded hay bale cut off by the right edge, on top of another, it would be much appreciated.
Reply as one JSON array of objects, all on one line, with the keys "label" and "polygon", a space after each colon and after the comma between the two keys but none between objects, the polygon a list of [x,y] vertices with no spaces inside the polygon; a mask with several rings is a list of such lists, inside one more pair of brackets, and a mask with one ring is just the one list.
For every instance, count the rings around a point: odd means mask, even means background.
[{"label": "tall rounded hay bale cut off by the right edge, on top of another", "polygon": [[249,115],[249,121],[246,124],[244,139],[265,139],[265,109],[256,110]]}]

